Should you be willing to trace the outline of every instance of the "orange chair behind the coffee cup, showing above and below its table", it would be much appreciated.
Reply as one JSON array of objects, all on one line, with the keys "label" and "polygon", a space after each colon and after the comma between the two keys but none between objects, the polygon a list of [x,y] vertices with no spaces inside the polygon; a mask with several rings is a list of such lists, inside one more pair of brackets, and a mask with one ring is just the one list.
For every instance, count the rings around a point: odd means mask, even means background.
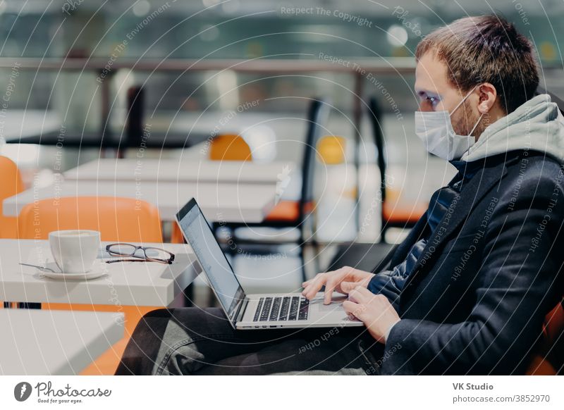
[{"label": "orange chair behind the coffee cup, showing above and below its table", "polygon": [[[159,211],[152,204],[133,198],[63,197],[43,199],[22,209],[19,233],[22,239],[47,239],[49,232],[63,229],[99,230],[104,241],[162,242]],[[133,329],[155,306],[43,304],[44,309],[121,311],[125,314],[125,336],[81,374],[112,375]]]}]

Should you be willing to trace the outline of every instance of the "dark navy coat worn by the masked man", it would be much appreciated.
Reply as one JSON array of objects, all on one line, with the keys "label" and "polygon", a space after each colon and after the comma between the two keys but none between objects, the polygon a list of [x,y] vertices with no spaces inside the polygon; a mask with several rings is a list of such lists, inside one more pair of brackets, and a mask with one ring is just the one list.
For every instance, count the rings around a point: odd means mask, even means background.
[{"label": "dark navy coat worn by the masked man", "polygon": [[[564,175],[535,151],[487,159],[462,186],[398,289],[373,279],[402,320],[382,374],[522,374],[546,313],[563,297]],[[423,216],[391,266],[429,235]]]}]

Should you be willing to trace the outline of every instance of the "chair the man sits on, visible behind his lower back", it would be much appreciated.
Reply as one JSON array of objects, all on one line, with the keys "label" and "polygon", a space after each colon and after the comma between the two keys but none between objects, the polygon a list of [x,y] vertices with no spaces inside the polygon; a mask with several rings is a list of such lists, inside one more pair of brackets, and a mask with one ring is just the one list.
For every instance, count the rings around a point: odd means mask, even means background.
[{"label": "chair the man sits on, visible behind his lower back", "polygon": [[556,375],[564,370],[564,300],[544,318],[542,337],[527,368],[528,375]]}]

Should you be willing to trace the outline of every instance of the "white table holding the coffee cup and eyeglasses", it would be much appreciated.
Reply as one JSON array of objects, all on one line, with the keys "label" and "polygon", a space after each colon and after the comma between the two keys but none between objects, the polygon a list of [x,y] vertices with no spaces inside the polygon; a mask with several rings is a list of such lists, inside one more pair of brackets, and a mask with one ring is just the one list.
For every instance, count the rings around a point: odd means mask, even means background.
[{"label": "white table holding the coffee cup and eyeglasses", "polygon": [[[105,244],[102,242],[102,248]],[[168,306],[200,273],[200,263],[188,244],[145,244],[175,254],[171,265],[155,262],[104,263],[107,275],[92,280],[44,278],[31,266],[53,261],[46,240],[0,240],[0,300]],[[107,256],[100,254],[99,256]],[[196,262],[195,262],[196,261]]]}]

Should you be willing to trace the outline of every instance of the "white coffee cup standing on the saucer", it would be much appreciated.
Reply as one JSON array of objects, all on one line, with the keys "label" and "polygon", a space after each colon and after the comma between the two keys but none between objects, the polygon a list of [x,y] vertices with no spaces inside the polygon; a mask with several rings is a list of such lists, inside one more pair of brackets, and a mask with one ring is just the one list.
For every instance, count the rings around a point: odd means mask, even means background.
[{"label": "white coffee cup standing on the saucer", "polygon": [[98,256],[97,230],[55,230],[49,232],[51,253],[62,273],[87,273]]}]

